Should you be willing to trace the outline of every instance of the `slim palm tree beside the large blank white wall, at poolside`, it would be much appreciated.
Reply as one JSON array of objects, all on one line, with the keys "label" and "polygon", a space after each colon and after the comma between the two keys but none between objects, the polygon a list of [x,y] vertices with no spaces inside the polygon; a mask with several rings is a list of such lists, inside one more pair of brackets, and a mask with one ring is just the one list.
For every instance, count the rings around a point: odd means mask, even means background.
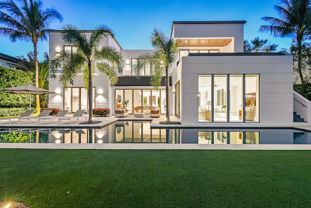
[{"label": "slim palm tree beside the large blank white wall, at poolside", "polygon": [[139,55],[137,64],[133,66],[133,74],[139,77],[145,65],[152,66],[150,83],[155,89],[158,89],[165,73],[166,120],[170,121],[169,70],[173,68],[176,62],[177,44],[175,40],[167,38],[163,32],[157,29],[154,29],[152,33],[151,44],[155,48],[155,52]]}]

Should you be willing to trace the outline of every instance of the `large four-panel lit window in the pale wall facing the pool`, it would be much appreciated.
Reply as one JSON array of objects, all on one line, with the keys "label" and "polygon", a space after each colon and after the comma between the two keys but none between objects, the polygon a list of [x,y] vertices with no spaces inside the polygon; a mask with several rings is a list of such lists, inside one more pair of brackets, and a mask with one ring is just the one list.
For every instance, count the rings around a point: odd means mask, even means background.
[{"label": "large four-panel lit window in the pale wall facing the pool", "polygon": [[199,122],[259,122],[259,75],[199,75]]}]

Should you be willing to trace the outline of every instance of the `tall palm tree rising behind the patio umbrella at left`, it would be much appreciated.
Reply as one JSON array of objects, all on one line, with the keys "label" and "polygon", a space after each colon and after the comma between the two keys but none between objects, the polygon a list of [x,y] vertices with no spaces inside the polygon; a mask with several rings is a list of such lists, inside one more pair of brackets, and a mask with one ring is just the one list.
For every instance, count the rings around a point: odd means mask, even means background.
[{"label": "tall palm tree rising behind the patio umbrella at left", "polygon": [[[38,57],[37,43],[46,40],[48,28],[52,21],[62,20],[62,16],[55,9],[42,9],[41,1],[20,0],[22,7],[18,8],[13,0],[0,2],[0,23],[7,27],[0,27],[0,35],[12,41],[25,40],[34,44],[35,54],[35,86],[38,87]],[[7,13],[5,13],[6,11]],[[39,95],[36,96],[35,110],[40,110]]]}]

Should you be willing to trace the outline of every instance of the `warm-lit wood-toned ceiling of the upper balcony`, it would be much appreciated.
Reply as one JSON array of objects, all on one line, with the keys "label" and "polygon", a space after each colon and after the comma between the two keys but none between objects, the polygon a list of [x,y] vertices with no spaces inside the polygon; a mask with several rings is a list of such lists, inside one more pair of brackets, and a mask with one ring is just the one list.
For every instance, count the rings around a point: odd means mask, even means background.
[{"label": "warm-lit wood-toned ceiling of the upper balcony", "polygon": [[204,46],[226,46],[232,41],[231,38],[178,38],[178,47],[204,47]]}]

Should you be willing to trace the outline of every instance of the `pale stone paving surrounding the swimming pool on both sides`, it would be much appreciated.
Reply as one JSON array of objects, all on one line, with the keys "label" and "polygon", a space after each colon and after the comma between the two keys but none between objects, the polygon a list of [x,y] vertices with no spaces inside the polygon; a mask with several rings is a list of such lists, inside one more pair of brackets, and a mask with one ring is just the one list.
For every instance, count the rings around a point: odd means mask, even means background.
[{"label": "pale stone paving surrounding the swimming pool on both sides", "polygon": [[[0,128],[56,128],[56,129],[85,129],[85,128],[95,128],[100,129],[118,120],[152,120],[151,127],[157,128],[178,128],[184,127],[182,125],[160,125],[159,121],[164,121],[165,116],[160,118],[151,118],[149,116],[145,117],[121,117],[116,118],[114,116],[109,117],[95,117],[95,120],[102,121],[99,124],[94,125],[81,125],[81,121],[86,120],[87,117],[80,119],[79,121],[72,121],[71,124],[62,122],[58,125],[58,122],[54,121],[49,124],[48,121],[42,122],[40,126],[38,123],[29,124],[25,121],[21,124],[13,122],[12,124],[5,123],[1,121]],[[171,121],[175,121],[174,117],[171,117]],[[296,129],[306,130],[311,132],[311,126],[297,126]],[[145,144],[133,144],[133,143],[123,143],[123,144],[52,144],[52,143],[0,143],[0,149],[16,148],[16,149],[106,149],[106,150],[311,150],[311,144],[309,145],[231,145],[231,144],[155,144],[155,143],[145,143]]]}]

